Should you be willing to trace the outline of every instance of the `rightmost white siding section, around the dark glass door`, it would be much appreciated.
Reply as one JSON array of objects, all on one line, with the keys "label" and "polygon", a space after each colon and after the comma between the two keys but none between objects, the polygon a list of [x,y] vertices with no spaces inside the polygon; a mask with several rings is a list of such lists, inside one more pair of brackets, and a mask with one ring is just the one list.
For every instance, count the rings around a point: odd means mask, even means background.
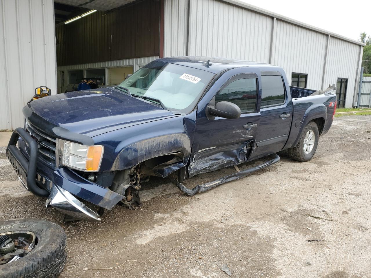
[{"label": "rightmost white siding section, around the dark glass door", "polygon": [[352,107],[354,90],[358,92],[355,79],[359,75],[357,68],[360,47],[357,44],[330,37],[324,81],[325,85],[330,83],[336,85],[338,77],[348,79],[345,107]]}]

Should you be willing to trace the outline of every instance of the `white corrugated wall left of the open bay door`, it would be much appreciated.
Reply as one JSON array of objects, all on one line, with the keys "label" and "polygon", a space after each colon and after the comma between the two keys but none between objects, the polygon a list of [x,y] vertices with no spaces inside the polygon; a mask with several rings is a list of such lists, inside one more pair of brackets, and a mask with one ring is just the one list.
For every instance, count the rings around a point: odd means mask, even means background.
[{"label": "white corrugated wall left of the open bay door", "polygon": [[56,90],[53,0],[0,0],[0,130],[23,126],[35,87]]}]

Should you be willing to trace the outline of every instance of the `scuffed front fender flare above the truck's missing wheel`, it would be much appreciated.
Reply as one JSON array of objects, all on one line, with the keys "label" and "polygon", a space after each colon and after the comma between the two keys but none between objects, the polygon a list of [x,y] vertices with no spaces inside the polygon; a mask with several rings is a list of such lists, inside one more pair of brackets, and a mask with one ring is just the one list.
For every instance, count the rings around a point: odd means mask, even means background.
[{"label": "scuffed front fender flare above the truck's missing wheel", "polygon": [[191,143],[185,133],[145,139],[121,149],[111,171],[128,169],[145,160],[177,152],[183,153],[183,162],[186,164],[191,153]]}]

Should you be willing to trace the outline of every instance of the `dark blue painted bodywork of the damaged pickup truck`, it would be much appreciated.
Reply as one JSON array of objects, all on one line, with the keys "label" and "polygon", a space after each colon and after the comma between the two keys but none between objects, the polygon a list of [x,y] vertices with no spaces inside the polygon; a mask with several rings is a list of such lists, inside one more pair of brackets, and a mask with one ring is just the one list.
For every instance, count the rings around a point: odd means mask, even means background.
[{"label": "dark blue painted bodywork of the damaged pickup truck", "polygon": [[[313,119],[323,119],[322,134],[329,130],[333,112],[329,103],[336,101],[334,94],[310,96],[314,91],[301,92],[299,88],[295,89],[295,96],[306,97],[292,99],[292,88],[280,67],[223,59],[210,59],[211,66],[206,67],[207,60],[194,57],[157,60],[187,67],[188,72],[193,68],[214,75],[190,113],[171,112],[114,88],[44,97],[31,102],[31,109],[52,126],[88,135],[95,144],[104,145],[100,171],[120,171],[156,156],[181,153],[181,161],[154,169],[157,176],[168,176],[185,166],[191,177],[292,148]],[[282,104],[260,107],[262,72],[278,72],[282,76],[286,94]],[[236,120],[208,118],[206,107],[223,85],[236,75],[251,73],[257,76],[256,110],[242,113]],[[283,113],[290,116],[280,118]],[[246,123],[256,123],[257,128],[244,128]],[[43,130],[42,126],[37,128]],[[259,148],[259,142],[265,142],[264,147]],[[22,139],[19,148],[27,156]],[[96,205],[111,208],[122,198],[66,167],[50,169],[41,161],[37,166],[41,175]]]}]

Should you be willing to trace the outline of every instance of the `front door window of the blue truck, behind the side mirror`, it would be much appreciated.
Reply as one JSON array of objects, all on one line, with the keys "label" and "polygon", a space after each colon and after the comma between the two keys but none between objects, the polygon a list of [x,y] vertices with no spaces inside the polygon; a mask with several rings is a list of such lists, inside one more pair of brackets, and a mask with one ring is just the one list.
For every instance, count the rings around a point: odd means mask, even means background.
[{"label": "front door window of the blue truck, behind the side mirror", "polygon": [[256,78],[244,78],[235,80],[227,85],[215,96],[215,104],[228,101],[238,105],[241,112],[256,110]]}]

